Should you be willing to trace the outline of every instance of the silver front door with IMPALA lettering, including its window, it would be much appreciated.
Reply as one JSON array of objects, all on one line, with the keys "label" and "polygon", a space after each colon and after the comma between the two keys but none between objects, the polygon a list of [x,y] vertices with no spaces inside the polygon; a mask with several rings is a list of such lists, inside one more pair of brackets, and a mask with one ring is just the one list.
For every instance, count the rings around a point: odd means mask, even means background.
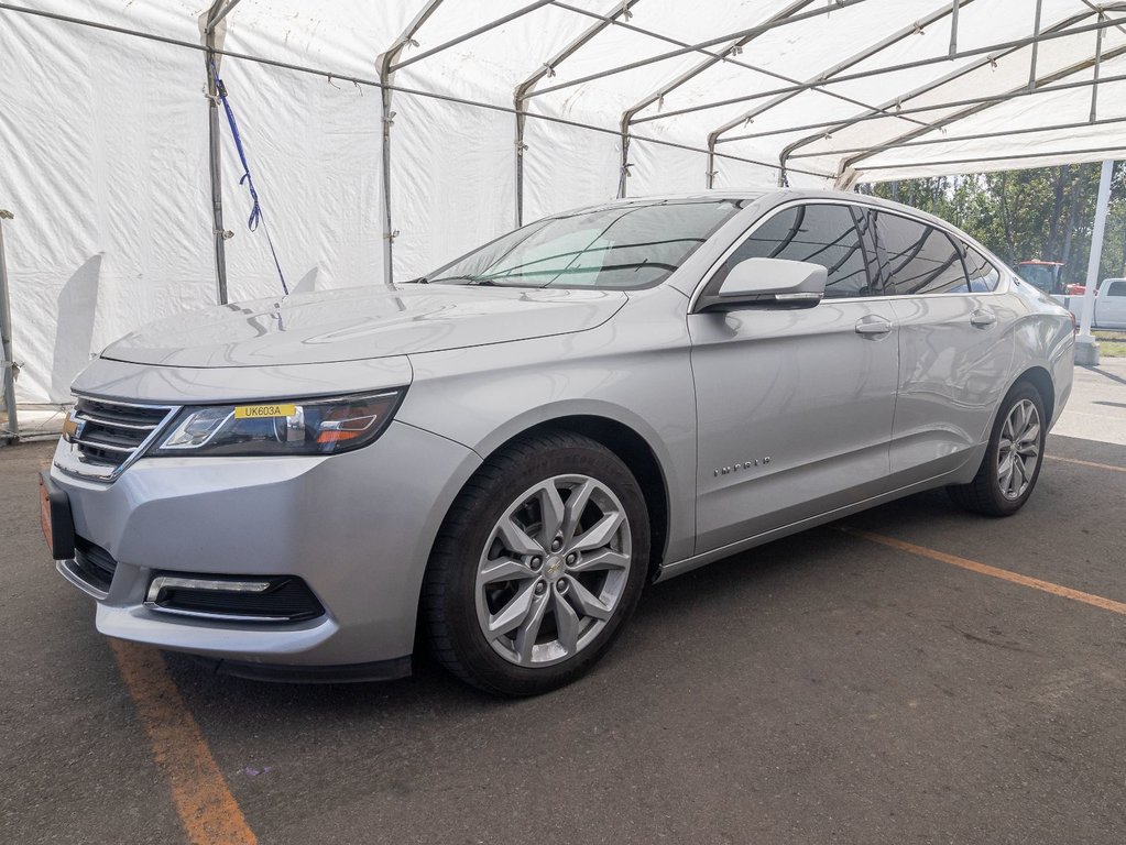
[{"label": "silver front door with IMPALA lettering, including its window", "polygon": [[899,330],[873,287],[868,221],[865,209],[835,203],[770,213],[707,289],[742,260],[779,258],[824,266],[825,298],[689,314],[697,554],[887,489]]}]

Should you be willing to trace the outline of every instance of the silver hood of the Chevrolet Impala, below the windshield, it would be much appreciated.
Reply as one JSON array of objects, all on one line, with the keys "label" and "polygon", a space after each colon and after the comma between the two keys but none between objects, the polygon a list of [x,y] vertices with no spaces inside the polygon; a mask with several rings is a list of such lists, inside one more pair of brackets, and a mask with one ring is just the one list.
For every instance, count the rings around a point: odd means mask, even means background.
[{"label": "silver hood of the Chevrolet Impala, below the windshield", "polygon": [[169,367],[330,363],[568,334],[609,320],[617,291],[405,285],[233,303],[151,323],[101,354]]}]

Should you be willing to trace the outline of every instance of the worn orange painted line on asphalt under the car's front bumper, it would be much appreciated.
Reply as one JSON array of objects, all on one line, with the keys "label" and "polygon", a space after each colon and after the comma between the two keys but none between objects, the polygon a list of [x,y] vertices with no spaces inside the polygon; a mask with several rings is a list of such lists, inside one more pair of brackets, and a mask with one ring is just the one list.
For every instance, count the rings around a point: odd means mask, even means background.
[{"label": "worn orange painted line on asphalt under the car's front bumper", "polygon": [[172,789],[188,840],[193,845],[257,843],[160,651],[123,640],[110,640],[110,645],[157,764]]}]

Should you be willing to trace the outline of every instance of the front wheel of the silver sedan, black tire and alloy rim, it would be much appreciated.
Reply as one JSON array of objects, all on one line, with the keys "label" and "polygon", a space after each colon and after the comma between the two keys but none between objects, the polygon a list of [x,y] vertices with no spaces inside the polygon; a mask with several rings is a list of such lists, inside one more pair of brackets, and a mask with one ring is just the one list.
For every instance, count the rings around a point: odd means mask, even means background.
[{"label": "front wheel of the silver sedan, black tire and alloy rim", "polygon": [[431,650],[495,695],[571,683],[633,613],[649,550],[645,497],[616,455],[566,431],[520,437],[485,460],[438,532],[421,605]]}]

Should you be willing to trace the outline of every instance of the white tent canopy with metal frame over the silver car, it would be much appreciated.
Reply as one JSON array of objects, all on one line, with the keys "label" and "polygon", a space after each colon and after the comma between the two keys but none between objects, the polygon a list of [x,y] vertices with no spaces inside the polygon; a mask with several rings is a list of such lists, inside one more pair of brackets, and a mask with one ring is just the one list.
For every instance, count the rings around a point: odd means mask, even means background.
[{"label": "white tent canopy with metal frame over the silver car", "polygon": [[298,290],[618,195],[1126,152],[1126,2],[0,0],[23,402],[68,401],[91,351],[220,280],[280,293],[213,59]]}]

